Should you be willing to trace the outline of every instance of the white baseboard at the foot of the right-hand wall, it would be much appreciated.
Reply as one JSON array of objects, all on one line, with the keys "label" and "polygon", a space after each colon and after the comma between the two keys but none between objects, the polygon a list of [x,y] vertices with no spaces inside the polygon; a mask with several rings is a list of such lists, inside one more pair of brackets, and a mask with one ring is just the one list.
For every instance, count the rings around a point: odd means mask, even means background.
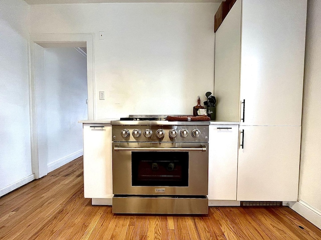
[{"label": "white baseboard at the foot of the right-hand wall", "polygon": [[299,200],[295,202],[289,202],[289,206],[303,216],[305,219],[316,225],[321,229],[321,212],[313,208],[305,201]]}]

